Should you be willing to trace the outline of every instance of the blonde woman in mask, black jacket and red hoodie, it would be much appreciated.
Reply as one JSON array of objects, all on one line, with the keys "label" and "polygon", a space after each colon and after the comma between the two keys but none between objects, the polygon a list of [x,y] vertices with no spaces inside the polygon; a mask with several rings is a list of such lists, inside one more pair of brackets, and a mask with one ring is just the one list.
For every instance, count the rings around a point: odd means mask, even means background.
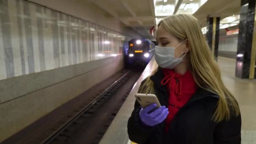
[{"label": "blonde woman in mask, black jacket and red hoodie", "polygon": [[234,96],[201,32],[187,14],[160,21],[156,35],[158,69],[139,93],[153,93],[162,107],[142,109],[136,101],[128,135],[138,144],[240,144],[241,115]]}]

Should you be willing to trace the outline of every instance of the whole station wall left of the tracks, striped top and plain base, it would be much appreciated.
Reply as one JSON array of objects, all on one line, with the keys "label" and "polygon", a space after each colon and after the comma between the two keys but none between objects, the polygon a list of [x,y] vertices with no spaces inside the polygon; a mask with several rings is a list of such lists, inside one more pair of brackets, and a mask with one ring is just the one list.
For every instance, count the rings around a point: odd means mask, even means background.
[{"label": "whole station wall left of the tracks, striped top and plain base", "polygon": [[32,2],[0,0],[0,141],[120,71],[141,37],[89,2]]}]

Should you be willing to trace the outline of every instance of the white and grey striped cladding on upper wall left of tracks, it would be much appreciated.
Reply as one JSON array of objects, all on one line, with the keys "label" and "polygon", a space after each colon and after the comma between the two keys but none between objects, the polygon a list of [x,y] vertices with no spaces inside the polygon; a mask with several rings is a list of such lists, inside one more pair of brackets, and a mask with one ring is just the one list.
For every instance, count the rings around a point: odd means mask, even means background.
[{"label": "white and grey striped cladding on upper wall left of tracks", "polygon": [[24,0],[0,0],[0,80],[116,56],[131,38]]}]

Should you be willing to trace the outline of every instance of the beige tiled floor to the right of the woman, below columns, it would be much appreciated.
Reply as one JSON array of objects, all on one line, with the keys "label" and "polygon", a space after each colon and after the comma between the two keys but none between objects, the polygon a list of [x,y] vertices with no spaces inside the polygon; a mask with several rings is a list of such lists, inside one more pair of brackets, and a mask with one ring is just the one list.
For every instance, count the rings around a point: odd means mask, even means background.
[{"label": "beige tiled floor to the right of the woman, below columns", "polygon": [[235,95],[242,115],[242,144],[256,144],[256,80],[235,77],[235,59],[219,57],[222,79]]}]

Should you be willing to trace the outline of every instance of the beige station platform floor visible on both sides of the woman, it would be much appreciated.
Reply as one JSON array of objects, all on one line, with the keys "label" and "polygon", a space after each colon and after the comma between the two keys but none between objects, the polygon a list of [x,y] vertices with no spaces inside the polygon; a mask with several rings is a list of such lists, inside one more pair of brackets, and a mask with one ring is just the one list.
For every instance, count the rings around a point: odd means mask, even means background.
[{"label": "beige station platform floor visible on both sides of the woman", "polygon": [[[242,144],[254,144],[253,141],[256,139],[256,80],[236,78],[235,59],[219,57],[218,64],[224,84],[234,94],[240,106],[242,115]],[[131,93],[99,144],[134,144],[129,140],[127,133],[128,118],[133,111],[134,102],[136,101],[134,95],[137,93],[141,81],[148,77],[156,68],[157,64],[153,58],[133,86]]]}]

